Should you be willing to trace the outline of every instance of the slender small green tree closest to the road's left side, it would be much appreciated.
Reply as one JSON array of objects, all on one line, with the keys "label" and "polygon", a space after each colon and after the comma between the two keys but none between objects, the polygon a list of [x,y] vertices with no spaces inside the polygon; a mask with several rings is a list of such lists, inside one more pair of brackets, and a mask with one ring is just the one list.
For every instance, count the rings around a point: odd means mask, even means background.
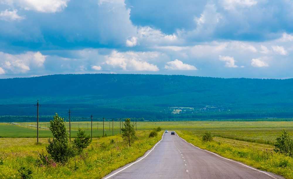
[{"label": "slender small green tree closest to the road's left side", "polygon": [[122,131],[122,139],[123,141],[131,146],[131,144],[137,140],[137,136],[135,135],[134,125],[130,124],[130,119],[125,119],[124,128]]}]

